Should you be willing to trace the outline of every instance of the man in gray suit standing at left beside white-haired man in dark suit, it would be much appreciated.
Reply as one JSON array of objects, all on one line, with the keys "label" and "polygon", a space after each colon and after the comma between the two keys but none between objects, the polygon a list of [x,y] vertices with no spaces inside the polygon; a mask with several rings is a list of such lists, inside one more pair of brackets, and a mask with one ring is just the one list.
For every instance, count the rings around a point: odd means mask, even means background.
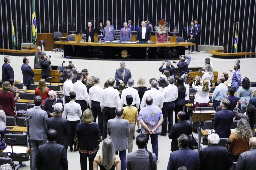
[{"label": "man in gray suit standing at left beside white-haired man in dark suit", "polygon": [[34,98],[35,106],[27,110],[26,118],[31,117],[29,121],[29,135],[31,139],[31,146],[33,148],[33,162],[36,164],[36,154],[38,146],[47,142],[47,113],[41,109],[42,97],[36,96]]}]

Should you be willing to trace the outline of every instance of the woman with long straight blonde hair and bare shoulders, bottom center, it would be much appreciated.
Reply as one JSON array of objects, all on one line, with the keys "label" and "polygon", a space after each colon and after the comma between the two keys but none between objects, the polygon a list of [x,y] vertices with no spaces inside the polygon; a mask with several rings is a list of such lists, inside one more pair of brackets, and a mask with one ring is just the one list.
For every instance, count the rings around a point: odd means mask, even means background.
[{"label": "woman with long straight blonde hair and bare shoulders, bottom center", "polygon": [[102,154],[97,154],[93,161],[93,170],[121,170],[121,160],[114,148],[111,139],[104,139],[102,144]]}]

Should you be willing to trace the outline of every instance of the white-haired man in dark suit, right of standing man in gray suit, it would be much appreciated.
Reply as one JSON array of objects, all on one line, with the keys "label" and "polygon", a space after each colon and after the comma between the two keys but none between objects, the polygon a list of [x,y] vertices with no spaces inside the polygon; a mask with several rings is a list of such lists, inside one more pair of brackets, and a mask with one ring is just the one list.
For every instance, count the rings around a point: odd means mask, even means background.
[{"label": "white-haired man in dark suit, right of standing man in gray suit", "polygon": [[69,135],[69,121],[62,118],[61,113],[63,111],[62,103],[56,103],[54,105],[55,115],[52,118],[47,119],[47,128],[57,131],[56,143],[65,146],[68,149],[68,135]]}]

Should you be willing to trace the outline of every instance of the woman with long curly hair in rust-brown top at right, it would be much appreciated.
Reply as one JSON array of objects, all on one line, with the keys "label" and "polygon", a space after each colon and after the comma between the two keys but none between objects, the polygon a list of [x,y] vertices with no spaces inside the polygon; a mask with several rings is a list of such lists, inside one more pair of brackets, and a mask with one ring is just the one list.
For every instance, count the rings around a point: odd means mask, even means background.
[{"label": "woman with long curly hair in rust-brown top at right", "polygon": [[228,138],[231,141],[228,150],[233,162],[237,162],[239,155],[249,151],[249,139],[253,137],[249,123],[245,119],[240,119],[237,123],[236,131],[232,132]]}]

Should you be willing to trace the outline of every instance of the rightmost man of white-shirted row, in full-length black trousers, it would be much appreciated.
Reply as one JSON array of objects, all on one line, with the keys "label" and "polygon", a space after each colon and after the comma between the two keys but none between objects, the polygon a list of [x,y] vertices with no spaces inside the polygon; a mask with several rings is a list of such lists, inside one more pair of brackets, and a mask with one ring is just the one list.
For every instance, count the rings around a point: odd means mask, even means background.
[{"label": "rightmost man of white-shirted row, in full-length black trousers", "polygon": [[[166,133],[171,131],[173,124],[173,110],[175,108],[174,101],[178,98],[178,88],[174,86],[174,77],[168,77],[168,86],[163,89],[164,105],[162,108],[163,113],[163,124],[162,131],[158,132],[161,136],[166,136]],[[168,119],[168,130],[167,130],[167,119]],[[167,130],[167,131],[166,131]]]}]

